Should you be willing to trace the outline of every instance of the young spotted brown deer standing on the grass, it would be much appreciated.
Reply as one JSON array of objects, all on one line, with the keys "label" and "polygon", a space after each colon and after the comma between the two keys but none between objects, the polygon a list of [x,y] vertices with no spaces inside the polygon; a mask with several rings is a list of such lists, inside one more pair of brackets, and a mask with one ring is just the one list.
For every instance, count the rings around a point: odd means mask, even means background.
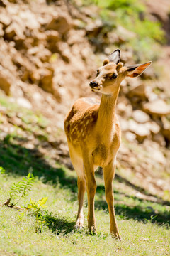
[{"label": "young spotted brown deer standing on the grass", "polygon": [[89,83],[93,92],[101,93],[101,101],[94,97],[77,100],[64,119],[69,155],[77,172],[78,201],[76,229],[84,228],[84,193],[88,198],[88,228],[96,234],[94,196],[95,171],[103,169],[105,196],[111,220],[111,235],[121,240],[115,218],[113,179],[115,162],[121,142],[121,129],[115,113],[120,84],[126,78],[141,75],[152,61],[125,67],[120,62],[120,49],[114,50],[96,70],[96,78]]}]

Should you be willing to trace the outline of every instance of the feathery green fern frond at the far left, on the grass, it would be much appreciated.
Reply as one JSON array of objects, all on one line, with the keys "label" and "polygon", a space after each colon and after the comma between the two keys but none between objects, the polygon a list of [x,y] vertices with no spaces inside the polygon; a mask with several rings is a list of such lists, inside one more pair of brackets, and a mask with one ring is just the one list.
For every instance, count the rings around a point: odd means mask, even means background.
[{"label": "feathery green fern frond at the far left, on the grass", "polygon": [[19,181],[17,183],[13,183],[10,187],[9,192],[9,200],[13,201],[11,203],[11,206],[16,206],[16,204],[21,200],[21,198],[24,198],[25,196],[28,196],[31,187],[33,186],[34,176],[33,174],[28,174],[28,176],[23,177],[22,181]]}]

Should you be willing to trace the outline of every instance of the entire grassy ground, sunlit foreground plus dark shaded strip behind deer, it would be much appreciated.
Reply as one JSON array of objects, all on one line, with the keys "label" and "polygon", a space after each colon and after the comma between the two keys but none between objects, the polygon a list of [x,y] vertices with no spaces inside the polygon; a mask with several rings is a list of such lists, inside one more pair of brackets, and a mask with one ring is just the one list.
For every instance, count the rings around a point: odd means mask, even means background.
[{"label": "entire grassy ground, sunlit foreground plus dark shaded strip behind deer", "polygon": [[[11,184],[21,181],[30,170],[35,183],[30,195],[22,198],[19,206],[28,206],[30,198],[35,202],[44,197],[48,200],[47,208],[42,210],[45,223],[39,233],[35,233],[35,215],[30,210],[0,206],[1,256],[170,255],[170,203],[164,203],[161,198],[159,203],[138,198],[137,192],[147,195],[147,191],[123,178],[120,171],[117,171],[114,182],[115,212],[123,241],[111,238],[103,178],[99,174],[96,174],[95,198],[98,234],[88,233],[86,197],[84,230],[74,230],[78,208],[75,172],[50,156],[40,154],[39,146],[26,148],[30,134],[40,143],[47,142],[48,134],[41,124],[45,124],[42,122],[44,117],[35,118],[36,113],[13,107],[6,100],[3,102],[9,120],[17,115],[22,119],[22,125],[0,141],[0,166],[6,169],[6,174],[0,174],[0,203],[8,198]],[[43,136],[39,138],[38,134]]]}]

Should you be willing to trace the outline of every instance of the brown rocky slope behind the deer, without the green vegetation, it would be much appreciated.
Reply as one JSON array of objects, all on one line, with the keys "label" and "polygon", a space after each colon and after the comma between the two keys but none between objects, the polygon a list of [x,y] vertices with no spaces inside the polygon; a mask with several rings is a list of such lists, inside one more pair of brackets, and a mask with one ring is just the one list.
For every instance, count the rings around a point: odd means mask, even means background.
[{"label": "brown rocky slope behind the deer, without the green vegetation", "polygon": [[[151,1],[147,7],[152,18],[164,23],[169,36],[167,8],[157,12]],[[74,100],[91,95],[89,80],[105,56],[115,49],[114,44],[121,48],[121,43],[135,34],[121,26],[103,33],[105,27],[98,18],[96,6],[89,9],[66,0],[47,3],[1,0],[0,14],[0,88],[7,95],[3,97],[39,111],[50,120],[46,132],[51,139],[45,144],[49,150],[42,150],[43,154],[53,150],[57,160],[68,164],[65,137],[61,133],[56,140],[54,132],[63,129],[64,115]],[[170,52],[168,45],[164,48]],[[121,87],[118,115],[123,144],[118,169],[122,176],[149,193],[159,193],[169,199],[169,73],[166,75],[169,55],[164,54],[164,50],[162,53],[157,65],[153,65],[156,68],[149,68],[142,79],[125,80]],[[132,64],[133,54],[129,45],[124,47],[123,62]],[[163,65],[162,78],[157,75],[160,65]],[[6,107],[0,105],[0,111],[3,141],[11,127],[22,126],[22,118],[14,114],[11,121]],[[30,139],[33,146],[36,146],[35,139],[36,134]],[[28,139],[27,143],[30,142]],[[27,143],[24,146],[28,146]]]}]

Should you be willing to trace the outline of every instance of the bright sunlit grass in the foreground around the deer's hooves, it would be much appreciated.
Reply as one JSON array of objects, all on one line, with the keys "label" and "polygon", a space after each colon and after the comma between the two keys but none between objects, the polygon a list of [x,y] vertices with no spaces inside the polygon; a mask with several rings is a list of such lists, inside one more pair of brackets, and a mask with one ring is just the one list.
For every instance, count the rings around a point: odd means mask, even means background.
[{"label": "bright sunlit grass in the foreground around the deer's hooves", "polygon": [[[65,180],[76,181],[72,171],[60,166]],[[54,170],[55,171],[55,170]],[[35,233],[35,218],[28,211],[1,207],[1,255],[169,255],[169,219],[162,217],[166,206],[148,201],[139,201],[118,191],[115,181],[115,209],[123,241],[113,240],[110,235],[108,208],[104,203],[103,181],[96,192],[96,223],[98,235],[89,235],[87,223],[82,231],[75,231],[77,214],[77,188],[67,182],[60,183],[60,174],[55,184],[42,182],[36,178],[30,198],[38,201],[47,196],[47,218],[50,225],[44,225],[42,233]],[[8,189],[13,181],[21,180],[16,174],[1,175],[0,201],[8,198]],[[21,201],[26,206],[28,198]],[[84,203],[85,219],[87,203]],[[159,224],[152,219],[153,210],[157,210]],[[167,213],[168,214],[168,213]],[[170,217],[170,216],[168,216]],[[153,223],[152,223],[153,222]],[[7,254],[8,252],[8,254]]]}]

